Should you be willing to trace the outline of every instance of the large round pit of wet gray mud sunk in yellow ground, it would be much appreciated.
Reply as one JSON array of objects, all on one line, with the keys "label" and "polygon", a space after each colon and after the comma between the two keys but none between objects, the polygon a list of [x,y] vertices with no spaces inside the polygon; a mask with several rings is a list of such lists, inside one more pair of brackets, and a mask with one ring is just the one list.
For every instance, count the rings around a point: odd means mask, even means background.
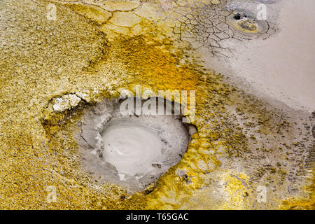
[{"label": "large round pit of wet gray mud sunk in yellow ground", "polygon": [[135,193],[179,162],[197,130],[181,115],[124,115],[121,103],[105,99],[85,109],[78,143],[85,172]]}]

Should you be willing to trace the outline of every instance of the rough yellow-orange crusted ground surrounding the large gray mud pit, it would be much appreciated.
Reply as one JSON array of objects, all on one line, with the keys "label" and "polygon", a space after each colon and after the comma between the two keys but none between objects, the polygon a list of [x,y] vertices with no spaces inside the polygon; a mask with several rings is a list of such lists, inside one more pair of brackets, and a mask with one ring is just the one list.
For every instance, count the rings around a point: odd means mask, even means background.
[{"label": "rough yellow-orange crusted ground surrounding the large gray mud pit", "polygon": [[[51,2],[56,21],[45,18]],[[314,209],[314,116],[275,108],[204,69],[158,2],[106,2],[0,2],[1,209]],[[214,2],[214,14],[202,15],[230,15]],[[213,49],[210,40],[202,43]],[[87,106],[137,84],[196,90],[198,132],[179,163],[130,196],[81,169],[75,136]],[[48,186],[56,202],[47,202]]]}]

